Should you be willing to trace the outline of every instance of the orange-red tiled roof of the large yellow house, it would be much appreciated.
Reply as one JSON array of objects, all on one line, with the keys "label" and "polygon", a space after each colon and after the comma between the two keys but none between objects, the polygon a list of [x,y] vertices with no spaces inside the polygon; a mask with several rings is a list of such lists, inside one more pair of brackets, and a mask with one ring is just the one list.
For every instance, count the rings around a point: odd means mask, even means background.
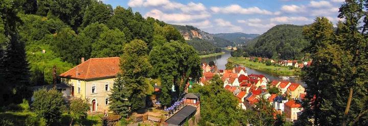
[{"label": "orange-red tiled roof of the large yellow house", "polygon": [[61,78],[90,80],[98,78],[115,78],[120,72],[120,58],[90,58],[74,68],[61,73]]}]

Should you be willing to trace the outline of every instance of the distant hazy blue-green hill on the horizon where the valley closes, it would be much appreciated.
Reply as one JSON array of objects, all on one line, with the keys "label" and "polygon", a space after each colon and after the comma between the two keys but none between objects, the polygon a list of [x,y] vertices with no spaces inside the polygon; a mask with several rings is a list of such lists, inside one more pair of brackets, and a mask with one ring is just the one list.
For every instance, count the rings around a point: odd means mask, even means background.
[{"label": "distant hazy blue-green hill on the horizon where the valley closes", "polygon": [[253,40],[254,38],[258,37],[259,34],[246,34],[246,33],[217,33],[213,34],[215,37],[223,38],[228,41],[231,41],[235,44],[245,44],[250,40]]}]

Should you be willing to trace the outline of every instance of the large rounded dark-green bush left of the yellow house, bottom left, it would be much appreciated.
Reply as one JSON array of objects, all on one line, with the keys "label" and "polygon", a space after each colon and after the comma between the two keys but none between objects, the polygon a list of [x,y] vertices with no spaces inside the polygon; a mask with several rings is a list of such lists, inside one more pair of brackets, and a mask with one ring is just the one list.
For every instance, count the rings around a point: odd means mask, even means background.
[{"label": "large rounded dark-green bush left of the yellow house, bottom left", "polygon": [[34,92],[32,107],[35,113],[47,120],[48,124],[56,124],[61,121],[62,108],[64,107],[63,94],[55,89],[40,89]]}]

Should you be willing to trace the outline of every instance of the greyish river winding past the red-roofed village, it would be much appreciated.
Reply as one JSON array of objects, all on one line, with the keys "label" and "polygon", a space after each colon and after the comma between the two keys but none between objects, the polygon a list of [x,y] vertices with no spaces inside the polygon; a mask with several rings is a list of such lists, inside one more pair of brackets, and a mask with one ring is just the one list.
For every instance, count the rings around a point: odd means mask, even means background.
[{"label": "greyish river winding past the red-roofed village", "polygon": [[[202,63],[209,63],[211,61],[217,63],[217,68],[218,69],[225,69],[225,64],[227,63],[227,59],[231,57],[230,53],[225,53],[223,55],[217,56],[217,57],[208,57],[208,58],[202,58]],[[272,75],[266,72],[262,72],[256,69],[251,69],[248,67],[245,67],[248,75],[249,74],[263,74],[267,79],[270,79],[270,81],[272,80],[279,80],[279,81],[289,81],[292,83],[299,83],[302,84],[303,86],[305,86],[304,83],[302,83],[302,81],[300,79],[295,79],[295,78],[291,78],[291,79],[280,79],[279,77],[277,77],[276,75]]]}]

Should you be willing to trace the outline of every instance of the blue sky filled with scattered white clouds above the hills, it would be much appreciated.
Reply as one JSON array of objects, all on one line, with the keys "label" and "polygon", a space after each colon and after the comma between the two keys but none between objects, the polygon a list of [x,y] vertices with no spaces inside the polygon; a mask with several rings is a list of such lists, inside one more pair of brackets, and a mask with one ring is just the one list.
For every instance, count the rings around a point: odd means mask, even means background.
[{"label": "blue sky filled with scattered white clouds above the hills", "polygon": [[336,26],[343,0],[103,0],[144,17],[190,25],[208,33],[262,34],[277,24],[310,24],[317,16]]}]

